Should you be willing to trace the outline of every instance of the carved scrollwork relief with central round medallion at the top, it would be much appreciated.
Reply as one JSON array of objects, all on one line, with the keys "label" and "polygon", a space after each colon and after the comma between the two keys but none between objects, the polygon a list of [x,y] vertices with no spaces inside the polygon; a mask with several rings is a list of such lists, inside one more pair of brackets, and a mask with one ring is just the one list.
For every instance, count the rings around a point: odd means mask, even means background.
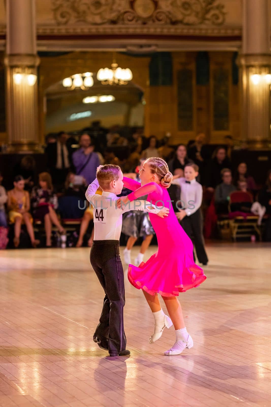
[{"label": "carved scrollwork relief with central round medallion at the top", "polygon": [[221,0],[51,0],[56,24],[178,25],[225,23]]}]

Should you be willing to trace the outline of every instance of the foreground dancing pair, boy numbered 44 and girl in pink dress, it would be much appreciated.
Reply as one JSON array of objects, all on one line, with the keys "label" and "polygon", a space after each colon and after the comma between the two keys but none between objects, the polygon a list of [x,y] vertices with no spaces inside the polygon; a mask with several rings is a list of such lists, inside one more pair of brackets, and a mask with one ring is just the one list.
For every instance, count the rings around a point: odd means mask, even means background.
[{"label": "foreground dancing pair, boy numbered 44 and girl in pink dress", "polygon": [[[158,250],[139,267],[129,265],[128,279],[137,289],[142,289],[154,316],[154,332],[150,343],[157,341],[165,328],[172,324],[176,341],[165,355],[180,354],[193,346],[187,333],[182,308],[177,299],[179,292],[199,286],[205,279],[203,270],[193,260],[193,244],[182,229],[172,208],[167,188],[172,181],[167,163],[161,158],[149,158],[140,173],[141,184],[123,177],[119,166],[98,167],[97,178],[89,185],[86,197],[95,204],[94,241],[91,248],[91,265],[104,289],[105,298],[100,322],[93,340],[110,356],[126,356],[126,336],[123,324],[124,273],[119,257],[119,236],[122,213],[130,210],[148,210],[150,221],[157,235]],[[98,187],[102,196],[95,194]],[[123,186],[132,190],[127,197],[117,198]],[[147,201],[163,203],[164,208],[151,209],[144,201],[141,206],[126,205],[147,195]],[[112,205],[111,201],[117,201]],[[100,202],[101,208],[99,208]],[[107,209],[102,209],[107,207]],[[167,307],[169,317],[163,312],[158,294]]]}]

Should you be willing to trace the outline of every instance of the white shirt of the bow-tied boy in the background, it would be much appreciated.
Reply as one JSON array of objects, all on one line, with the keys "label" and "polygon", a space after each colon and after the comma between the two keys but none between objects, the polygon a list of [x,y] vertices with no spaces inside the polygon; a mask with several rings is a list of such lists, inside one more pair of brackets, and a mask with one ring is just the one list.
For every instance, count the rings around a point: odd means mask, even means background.
[{"label": "white shirt of the bow-tied boy in the background", "polygon": [[202,186],[195,179],[190,182],[186,182],[185,178],[173,179],[171,184],[177,184],[181,187],[180,200],[182,206],[185,208],[187,216],[195,213],[202,205]]}]

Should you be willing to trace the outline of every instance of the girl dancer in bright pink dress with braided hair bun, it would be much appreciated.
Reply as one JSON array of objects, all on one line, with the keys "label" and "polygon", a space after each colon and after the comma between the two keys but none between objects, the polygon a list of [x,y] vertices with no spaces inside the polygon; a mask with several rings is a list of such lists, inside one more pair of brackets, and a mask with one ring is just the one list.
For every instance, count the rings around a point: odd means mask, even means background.
[{"label": "girl dancer in bright pink dress with braided hair bun", "polygon": [[[150,221],[157,235],[158,251],[139,267],[129,265],[128,279],[137,289],[142,289],[154,316],[154,333],[150,343],[157,341],[165,328],[174,325],[176,342],[165,355],[180,354],[185,348],[192,348],[193,340],[187,333],[182,308],[177,299],[179,292],[186,291],[206,280],[203,270],[193,260],[193,244],[176,218],[167,192],[172,180],[167,163],[161,158],[148,158],[140,171],[141,185],[124,178],[124,186],[134,191],[118,200],[126,204],[148,194],[152,204],[163,204],[169,208],[165,219],[154,217]],[[164,314],[158,294],[162,295],[170,318]],[[171,322],[172,321],[172,322]]]}]

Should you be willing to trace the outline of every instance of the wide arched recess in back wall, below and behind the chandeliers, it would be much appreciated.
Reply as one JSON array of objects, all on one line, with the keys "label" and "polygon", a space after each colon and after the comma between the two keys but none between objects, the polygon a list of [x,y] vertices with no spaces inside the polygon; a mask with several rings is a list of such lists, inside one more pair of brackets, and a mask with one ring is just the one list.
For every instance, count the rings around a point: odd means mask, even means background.
[{"label": "wide arched recess in back wall, below and behind the chandeliers", "polygon": [[89,90],[67,90],[62,80],[45,90],[45,133],[79,132],[92,121],[100,121],[106,128],[144,126],[144,93],[140,86],[132,81],[127,85],[102,85],[95,73],[93,80]]}]

